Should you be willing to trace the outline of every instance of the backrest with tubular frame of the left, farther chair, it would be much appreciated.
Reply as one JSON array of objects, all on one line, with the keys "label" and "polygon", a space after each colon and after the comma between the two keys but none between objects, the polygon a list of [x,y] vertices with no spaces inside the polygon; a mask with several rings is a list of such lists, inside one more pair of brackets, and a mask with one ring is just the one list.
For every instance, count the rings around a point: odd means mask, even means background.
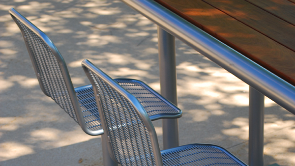
[{"label": "backrest with tubular frame of the left, farther chair", "polygon": [[[39,85],[89,135],[99,135],[88,129],[71,81],[66,63],[49,37],[14,8],[9,13],[24,37]],[[101,133],[101,132],[100,132]]]}]

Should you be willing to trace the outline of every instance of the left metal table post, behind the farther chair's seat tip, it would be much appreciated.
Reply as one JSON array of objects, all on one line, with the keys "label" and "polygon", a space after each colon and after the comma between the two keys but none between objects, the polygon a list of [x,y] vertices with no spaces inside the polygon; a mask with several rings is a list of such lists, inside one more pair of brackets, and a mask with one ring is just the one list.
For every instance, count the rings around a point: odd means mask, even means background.
[{"label": "left metal table post, behind the farther chair's seat tip", "polygon": [[[175,38],[158,27],[161,94],[177,106]],[[163,119],[164,149],[179,146],[178,119]]]}]

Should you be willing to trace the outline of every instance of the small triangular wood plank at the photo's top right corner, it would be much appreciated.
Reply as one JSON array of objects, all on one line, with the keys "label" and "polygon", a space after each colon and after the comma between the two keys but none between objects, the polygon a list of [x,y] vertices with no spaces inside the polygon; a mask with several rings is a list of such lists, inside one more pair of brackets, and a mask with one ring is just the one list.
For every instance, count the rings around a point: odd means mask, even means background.
[{"label": "small triangular wood plank at the photo's top right corner", "polygon": [[295,25],[295,3],[289,0],[246,0]]}]

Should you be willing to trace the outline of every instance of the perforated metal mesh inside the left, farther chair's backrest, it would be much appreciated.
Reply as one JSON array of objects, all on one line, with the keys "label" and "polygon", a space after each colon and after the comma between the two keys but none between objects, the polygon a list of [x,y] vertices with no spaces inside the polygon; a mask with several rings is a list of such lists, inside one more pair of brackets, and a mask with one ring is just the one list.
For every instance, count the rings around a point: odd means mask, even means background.
[{"label": "perforated metal mesh inside the left, farther chair's backrest", "polygon": [[25,26],[20,20],[16,20],[19,28],[24,31],[25,42],[29,45],[37,66],[38,75],[42,80],[46,93],[78,122],[56,57],[48,45],[37,34]]}]

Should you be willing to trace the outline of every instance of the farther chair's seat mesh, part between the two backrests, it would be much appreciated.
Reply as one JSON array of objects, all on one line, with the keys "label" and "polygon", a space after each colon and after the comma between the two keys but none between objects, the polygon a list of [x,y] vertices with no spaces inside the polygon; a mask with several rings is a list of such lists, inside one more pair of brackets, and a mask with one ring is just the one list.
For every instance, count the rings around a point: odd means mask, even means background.
[{"label": "farther chair's seat mesh, part between the two backrests", "polygon": [[93,131],[102,129],[92,86],[76,90],[76,94],[87,128]]}]

